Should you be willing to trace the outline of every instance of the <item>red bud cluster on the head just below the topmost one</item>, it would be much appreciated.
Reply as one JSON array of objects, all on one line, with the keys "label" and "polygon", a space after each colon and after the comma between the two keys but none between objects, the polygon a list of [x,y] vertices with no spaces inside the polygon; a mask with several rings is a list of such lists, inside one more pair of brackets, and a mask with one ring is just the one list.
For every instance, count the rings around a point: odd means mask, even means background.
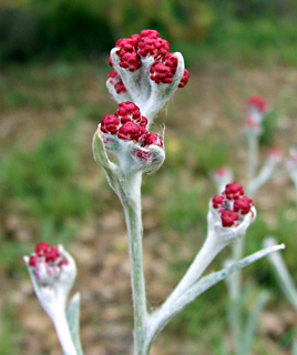
[{"label": "red bud cluster on the head just below the topmost one", "polygon": [[164,149],[162,138],[146,130],[147,120],[133,102],[122,102],[116,112],[105,115],[101,121],[103,133],[116,134],[120,140],[139,142],[140,146],[158,145]]}]

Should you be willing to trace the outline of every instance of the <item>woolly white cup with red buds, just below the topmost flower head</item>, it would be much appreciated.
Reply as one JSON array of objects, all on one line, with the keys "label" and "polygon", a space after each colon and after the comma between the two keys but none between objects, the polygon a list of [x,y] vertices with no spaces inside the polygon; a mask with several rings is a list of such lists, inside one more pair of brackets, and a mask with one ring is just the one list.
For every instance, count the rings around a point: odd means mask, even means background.
[{"label": "woolly white cup with red buds, just below the topmost flower head", "polygon": [[137,105],[133,102],[120,103],[115,114],[105,115],[99,124],[94,138],[99,149],[93,146],[94,156],[98,155],[95,160],[106,168],[106,155],[101,152],[103,148],[117,158],[123,174],[157,170],[165,160],[165,148],[162,138],[147,132],[146,125],[147,120]]}]

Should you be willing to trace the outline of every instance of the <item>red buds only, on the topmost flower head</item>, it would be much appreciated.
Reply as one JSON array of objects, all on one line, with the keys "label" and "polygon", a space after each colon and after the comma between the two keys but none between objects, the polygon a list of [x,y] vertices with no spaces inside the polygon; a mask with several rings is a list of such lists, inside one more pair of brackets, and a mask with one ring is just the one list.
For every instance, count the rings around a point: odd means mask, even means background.
[{"label": "red buds only, on the topmost flower head", "polygon": [[[157,31],[143,30],[140,34],[119,40],[115,48],[117,48],[116,54],[120,57],[120,67],[133,72],[141,68],[142,59],[150,55],[154,59],[150,71],[151,79],[157,84],[172,82],[177,68],[177,59],[168,52],[170,43],[163,40]],[[113,67],[112,60],[110,60],[110,64]],[[184,88],[187,82],[188,71],[185,69],[178,88]]]}]

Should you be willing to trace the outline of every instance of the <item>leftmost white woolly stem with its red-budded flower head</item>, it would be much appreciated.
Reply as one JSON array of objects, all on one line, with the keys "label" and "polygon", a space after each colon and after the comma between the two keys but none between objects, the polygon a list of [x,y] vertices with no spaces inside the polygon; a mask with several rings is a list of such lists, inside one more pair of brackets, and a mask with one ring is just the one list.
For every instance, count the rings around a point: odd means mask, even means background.
[{"label": "leftmost white woolly stem with its red-budded flower head", "polygon": [[[31,256],[23,257],[39,303],[52,320],[64,355],[82,354],[78,334],[79,295],[71,301],[71,324],[66,318],[66,301],[76,276],[76,266],[62,245],[39,243]],[[74,306],[75,304],[75,306]],[[68,310],[69,314],[69,310]]]}]

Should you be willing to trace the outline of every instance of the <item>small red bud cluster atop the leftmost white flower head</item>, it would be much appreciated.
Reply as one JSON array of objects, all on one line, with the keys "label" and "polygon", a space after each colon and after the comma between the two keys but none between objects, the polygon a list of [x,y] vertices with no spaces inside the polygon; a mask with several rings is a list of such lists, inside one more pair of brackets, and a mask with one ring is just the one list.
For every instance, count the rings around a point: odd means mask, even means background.
[{"label": "small red bud cluster atop the leftmost white flower head", "polygon": [[29,266],[38,267],[39,264],[51,266],[66,265],[68,261],[63,258],[57,246],[50,246],[48,243],[39,243],[35,246],[35,253],[30,256]]}]

